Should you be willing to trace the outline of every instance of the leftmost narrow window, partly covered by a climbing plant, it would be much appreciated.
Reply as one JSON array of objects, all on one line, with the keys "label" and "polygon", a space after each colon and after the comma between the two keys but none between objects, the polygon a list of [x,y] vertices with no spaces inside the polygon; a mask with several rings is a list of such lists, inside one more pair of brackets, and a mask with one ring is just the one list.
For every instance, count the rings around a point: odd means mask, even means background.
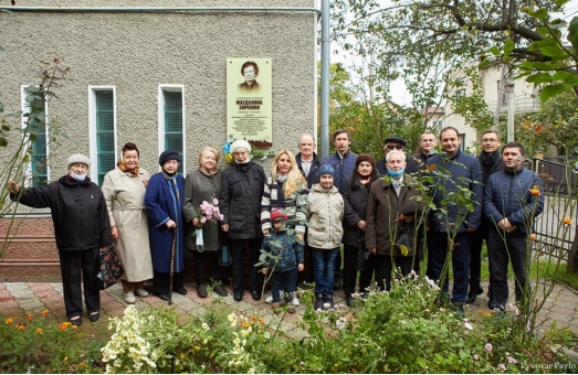
[{"label": "leftmost narrow window, partly covered by a climbing plant", "polygon": [[[22,86],[22,128],[31,151],[27,185],[42,186],[49,181],[48,103],[39,86]],[[33,114],[32,116],[30,114]]]}]

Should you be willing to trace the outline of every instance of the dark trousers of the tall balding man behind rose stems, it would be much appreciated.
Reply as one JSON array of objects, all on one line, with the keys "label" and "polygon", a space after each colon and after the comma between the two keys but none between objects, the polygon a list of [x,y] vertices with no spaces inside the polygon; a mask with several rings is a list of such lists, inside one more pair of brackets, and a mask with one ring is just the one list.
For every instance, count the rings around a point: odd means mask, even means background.
[{"label": "dark trousers of the tall balding man behind rose stems", "polygon": [[[441,278],[443,265],[448,257],[448,251],[452,251],[452,269],[453,269],[453,290],[452,302],[464,302],[467,297],[467,285],[470,271],[470,233],[459,233],[455,236],[454,243],[456,246],[452,249],[448,248],[448,234],[445,232],[431,231],[428,235],[429,249],[429,270],[428,275],[435,281]],[[443,282],[443,293],[448,294],[449,275],[445,272]]]}]

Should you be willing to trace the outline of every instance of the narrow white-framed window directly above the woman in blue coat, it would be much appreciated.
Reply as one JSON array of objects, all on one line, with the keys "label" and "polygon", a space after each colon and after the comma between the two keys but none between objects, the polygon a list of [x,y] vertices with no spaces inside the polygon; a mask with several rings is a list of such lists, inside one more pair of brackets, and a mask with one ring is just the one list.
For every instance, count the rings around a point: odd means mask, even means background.
[{"label": "narrow white-framed window directly above the woman in blue coat", "polygon": [[185,100],[182,86],[159,87],[159,153],[176,150],[182,162],[179,173],[185,174]]}]

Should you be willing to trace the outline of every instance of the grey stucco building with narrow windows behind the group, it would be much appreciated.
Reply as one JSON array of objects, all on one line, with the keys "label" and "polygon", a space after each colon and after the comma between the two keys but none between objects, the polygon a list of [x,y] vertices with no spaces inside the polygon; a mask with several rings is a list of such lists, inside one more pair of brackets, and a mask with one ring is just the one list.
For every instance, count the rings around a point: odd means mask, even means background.
[{"label": "grey stucco building with narrow windows behind the group", "polygon": [[[314,0],[0,6],[11,11],[0,15],[6,49],[0,101],[7,111],[27,111],[24,92],[39,81],[39,61],[63,57],[71,68],[57,98],[44,108],[49,121],[57,117],[67,139],[55,149],[41,144],[46,137],[34,144],[48,158],[43,174],[30,171],[41,175],[36,184],[65,174],[72,153],[90,156],[88,174],[102,184],[127,141],[139,147],[140,164],[151,174],[169,148],[182,153],[180,172],[190,172],[204,146],[220,149],[227,141],[229,57],[271,58],[273,149],[297,151],[301,133],[316,133],[319,12]],[[263,161],[266,169],[270,162]],[[60,279],[49,212],[22,208],[22,214],[18,236],[0,261],[0,280]],[[0,221],[0,233],[6,227]]]}]

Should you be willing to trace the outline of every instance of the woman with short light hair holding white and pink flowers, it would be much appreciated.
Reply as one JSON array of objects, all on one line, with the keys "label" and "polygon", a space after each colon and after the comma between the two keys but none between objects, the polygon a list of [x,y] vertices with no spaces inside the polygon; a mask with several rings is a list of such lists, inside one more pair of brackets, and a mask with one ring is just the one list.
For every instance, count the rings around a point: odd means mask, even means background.
[{"label": "woman with short light hair holding white and pink flowers", "polygon": [[[223,279],[222,267],[219,265],[219,249],[221,248],[221,229],[219,219],[219,192],[221,191],[221,171],[217,169],[219,151],[213,147],[206,147],[199,154],[199,169],[192,171],[185,180],[185,201],[182,213],[187,221],[189,234],[188,248],[195,254],[195,276],[197,278],[197,294],[207,297],[207,270],[210,269],[214,285],[213,291],[227,296],[221,285]],[[210,262],[210,266],[209,266]]]}]

